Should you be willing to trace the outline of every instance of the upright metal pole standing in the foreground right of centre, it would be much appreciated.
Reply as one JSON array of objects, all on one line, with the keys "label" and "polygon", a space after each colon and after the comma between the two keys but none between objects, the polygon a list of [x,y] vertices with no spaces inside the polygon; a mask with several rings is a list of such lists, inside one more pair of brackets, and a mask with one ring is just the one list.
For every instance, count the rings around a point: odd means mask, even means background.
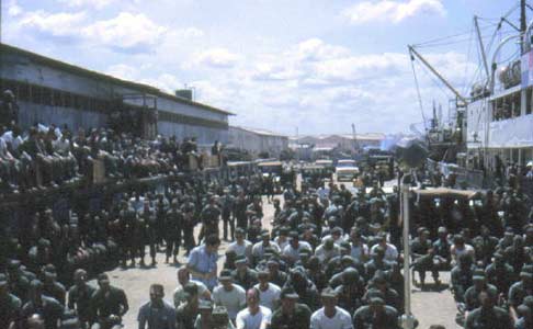
[{"label": "upright metal pole standing in the foreground right of centre", "polygon": [[409,250],[409,184],[406,178],[412,177],[405,174],[401,179],[401,222],[404,224],[404,303],[405,315],[401,317],[401,327],[404,329],[415,328],[415,318],[411,315],[411,271],[410,271],[410,250]]}]

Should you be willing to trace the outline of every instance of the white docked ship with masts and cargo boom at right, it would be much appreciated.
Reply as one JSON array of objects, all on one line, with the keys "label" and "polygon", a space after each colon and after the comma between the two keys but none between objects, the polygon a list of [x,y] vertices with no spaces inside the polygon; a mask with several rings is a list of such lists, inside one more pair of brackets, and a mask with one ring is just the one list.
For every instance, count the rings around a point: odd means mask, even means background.
[{"label": "white docked ship with masts and cargo boom at right", "polygon": [[[529,11],[533,11],[531,4],[517,1],[491,34],[507,26],[504,37],[490,46],[474,16],[481,75],[466,95],[432,67],[416,46],[408,46],[411,60],[428,68],[454,94],[453,122],[436,124],[433,110],[426,134],[431,152],[429,163],[435,170],[445,171],[444,174],[456,172],[460,181],[476,188],[501,184],[509,172],[525,177],[532,170],[533,21],[528,23]],[[517,12],[518,24],[510,19]],[[518,48],[514,53],[509,50],[513,47]],[[503,53],[511,56],[500,60]]]}]

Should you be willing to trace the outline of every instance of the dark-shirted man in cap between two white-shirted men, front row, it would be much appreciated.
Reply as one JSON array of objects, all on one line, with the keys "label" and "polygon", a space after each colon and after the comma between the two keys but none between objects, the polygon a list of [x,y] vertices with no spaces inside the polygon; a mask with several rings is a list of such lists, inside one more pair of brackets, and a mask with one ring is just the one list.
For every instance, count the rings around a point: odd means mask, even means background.
[{"label": "dark-shirted man in cap between two white-shirted men, front row", "polygon": [[298,294],[292,287],[281,291],[281,307],[272,314],[271,329],[307,329],[310,325],[311,310],[299,304]]}]

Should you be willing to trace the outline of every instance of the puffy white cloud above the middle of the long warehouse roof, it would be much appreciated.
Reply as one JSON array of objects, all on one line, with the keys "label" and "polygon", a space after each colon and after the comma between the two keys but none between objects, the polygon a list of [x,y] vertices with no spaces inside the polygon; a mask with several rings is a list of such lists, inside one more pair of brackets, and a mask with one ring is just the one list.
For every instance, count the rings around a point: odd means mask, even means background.
[{"label": "puffy white cloud above the middle of the long warehouse roof", "polygon": [[127,49],[158,44],[167,29],[141,13],[121,12],[116,18],[95,22],[81,32],[100,44]]}]

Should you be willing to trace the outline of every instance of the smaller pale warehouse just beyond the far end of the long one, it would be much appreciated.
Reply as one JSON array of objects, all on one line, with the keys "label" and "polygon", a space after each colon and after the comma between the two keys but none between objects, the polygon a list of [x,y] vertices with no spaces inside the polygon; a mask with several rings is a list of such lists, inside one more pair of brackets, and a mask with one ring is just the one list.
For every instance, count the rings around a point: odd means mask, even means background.
[{"label": "smaller pale warehouse just beyond the far end of the long one", "polygon": [[277,158],[288,148],[288,137],[262,129],[230,126],[229,146],[247,150],[254,157],[269,154],[269,157]]}]

